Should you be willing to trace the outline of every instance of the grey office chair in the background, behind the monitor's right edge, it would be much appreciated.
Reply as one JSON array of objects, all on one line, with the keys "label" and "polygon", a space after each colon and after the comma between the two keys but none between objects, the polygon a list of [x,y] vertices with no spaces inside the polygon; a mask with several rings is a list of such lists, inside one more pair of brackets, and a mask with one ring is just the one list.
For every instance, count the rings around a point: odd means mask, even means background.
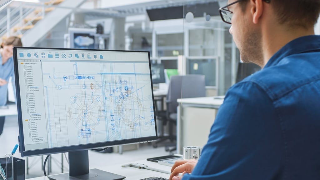
[{"label": "grey office chair in the background, behind the monitor's right edge", "polygon": [[[161,110],[156,112],[156,116],[159,120],[163,121],[163,125],[169,122],[169,135],[159,136],[158,140],[153,144],[153,147],[157,147],[158,143],[165,140],[174,142],[177,139],[173,134],[173,127],[177,123],[177,99],[180,98],[193,98],[205,96],[205,76],[204,75],[185,75],[185,76],[172,76],[170,78],[170,84],[168,94],[166,96],[167,110]],[[162,132],[164,132],[162,130]],[[172,146],[172,145],[169,145]],[[166,146],[166,150],[174,151],[175,148],[170,149]],[[174,144],[176,147],[176,144]]]}]

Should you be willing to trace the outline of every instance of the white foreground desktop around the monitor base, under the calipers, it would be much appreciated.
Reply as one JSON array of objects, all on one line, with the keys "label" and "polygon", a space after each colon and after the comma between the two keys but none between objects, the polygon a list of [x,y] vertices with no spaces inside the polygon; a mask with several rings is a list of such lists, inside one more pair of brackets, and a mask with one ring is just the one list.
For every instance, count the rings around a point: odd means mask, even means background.
[{"label": "white foreground desktop around the monitor base, under the calipers", "polygon": [[[160,165],[158,163],[150,162],[147,160],[135,161],[134,163],[145,164],[151,168],[162,169],[169,172],[171,171],[170,166]],[[160,172],[156,172],[148,169],[139,169],[139,168],[133,168],[133,167],[124,168],[124,167],[121,167],[121,165],[123,164],[117,164],[117,165],[107,166],[107,167],[99,167],[98,169],[108,171],[110,173],[118,174],[121,176],[126,176],[125,180],[139,180],[139,179],[153,177],[153,176],[164,177],[169,179],[169,176],[170,176],[169,174],[160,173]],[[41,177],[30,178],[28,180],[49,180],[49,179],[46,176],[41,176]]]}]

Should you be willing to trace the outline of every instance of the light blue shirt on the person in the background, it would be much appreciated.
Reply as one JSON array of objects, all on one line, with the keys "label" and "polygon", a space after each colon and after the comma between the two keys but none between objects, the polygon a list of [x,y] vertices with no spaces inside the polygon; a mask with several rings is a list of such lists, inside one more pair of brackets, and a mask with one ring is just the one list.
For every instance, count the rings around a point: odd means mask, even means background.
[{"label": "light blue shirt on the person in the background", "polygon": [[[5,79],[9,82],[9,78],[12,77],[12,85],[14,90],[14,95],[16,95],[16,84],[14,80],[14,69],[13,69],[13,58],[9,58],[6,63],[2,65],[2,56],[0,54],[0,78]],[[7,103],[8,96],[8,84],[0,86],[0,106]]]}]

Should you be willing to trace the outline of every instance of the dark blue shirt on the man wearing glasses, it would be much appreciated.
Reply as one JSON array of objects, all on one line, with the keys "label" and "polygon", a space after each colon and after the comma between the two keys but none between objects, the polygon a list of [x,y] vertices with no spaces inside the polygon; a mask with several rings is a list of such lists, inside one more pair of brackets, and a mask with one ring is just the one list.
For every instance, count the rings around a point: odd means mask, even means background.
[{"label": "dark blue shirt on the man wearing glasses", "polygon": [[320,36],[291,41],[228,90],[192,179],[320,179]]}]

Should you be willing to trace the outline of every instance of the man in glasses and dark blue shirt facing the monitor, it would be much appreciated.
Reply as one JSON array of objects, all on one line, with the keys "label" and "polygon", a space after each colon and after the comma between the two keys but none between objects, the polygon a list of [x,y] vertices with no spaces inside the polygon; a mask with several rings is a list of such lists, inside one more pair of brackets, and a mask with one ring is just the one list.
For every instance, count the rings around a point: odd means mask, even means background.
[{"label": "man in glasses and dark blue shirt facing the monitor", "polygon": [[170,180],[320,179],[319,12],[319,0],[220,8],[241,59],[263,69],[228,90],[200,160],[176,162]]}]

